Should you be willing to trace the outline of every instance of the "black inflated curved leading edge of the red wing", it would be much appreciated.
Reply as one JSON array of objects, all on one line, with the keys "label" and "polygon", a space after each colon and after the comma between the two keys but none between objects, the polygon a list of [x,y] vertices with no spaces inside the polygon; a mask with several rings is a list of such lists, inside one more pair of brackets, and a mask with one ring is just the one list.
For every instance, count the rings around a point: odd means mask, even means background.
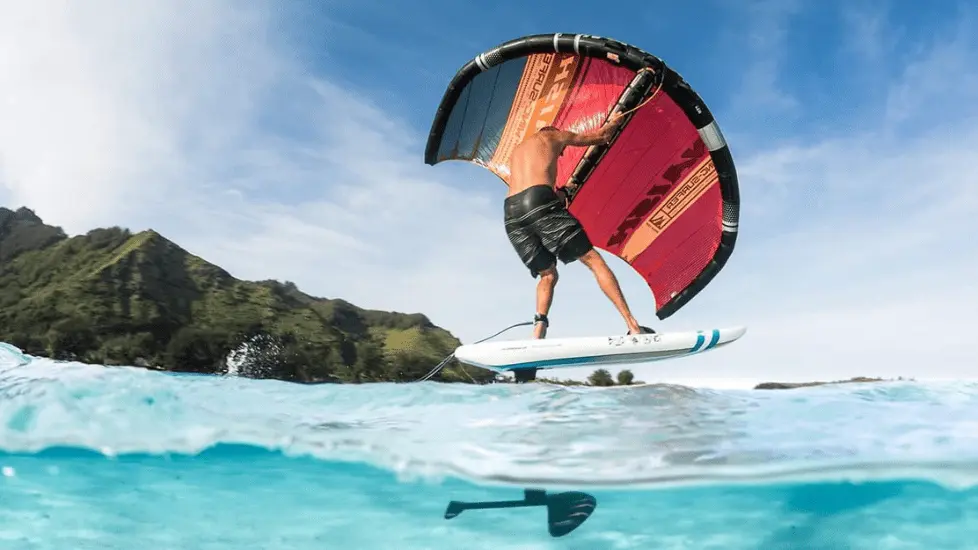
[{"label": "black inflated curved leading edge of the red wing", "polygon": [[[448,122],[448,116],[466,84],[475,78],[477,74],[513,58],[550,52],[577,53],[582,56],[598,57],[614,62],[614,59],[609,58],[609,55],[611,55],[617,57],[619,65],[634,71],[643,68],[654,69],[658,73],[657,78],[662,79],[662,92],[668,94],[676,105],[683,110],[697,130],[703,130],[710,126],[711,123],[714,123],[713,114],[703,102],[702,98],[700,98],[676,71],[658,57],[629,44],[599,36],[564,33],[537,34],[504,42],[491,50],[479,54],[458,70],[445,90],[438,110],[435,112],[435,117],[431,124],[431,131],[428,134],[428,143],[425,147],[425,164],[435,165],[439,162],[437,158],[438,149],[442,134],[445,131],[445,125]],[[632,104],[637,104],[640,99],[636,97],[634,101],[629,101],[629,104],[622,105],[621,107],[623,109],[629,109],[634,106]],[[715,128],[715,125],[714,129],[717,135],[719,135],[719,129]],[[706,140],[704,139],[704,141]],[[711,145],[711,143],[707,141],[707,145]],[[600,159],[603,156],[604,150],[595,151],[595,154],[591,158]],[[659,319],[665,319],[674,314],[703,290],[727,263],[727,260],[733,253],[734,244],[737,241],[740,218],[740,191],[733,156],[725,141],[721,147],[711,150],[710,156],[717,169],[720,180],[720,196],[723,201],[723,228],[720,236],[720,245],[717,247],[710,262],[707,263],[706,267],[693,279],[689,286],[682,292],[677,293],[659,308],[659,311],[656,312],[656,316]]]}]

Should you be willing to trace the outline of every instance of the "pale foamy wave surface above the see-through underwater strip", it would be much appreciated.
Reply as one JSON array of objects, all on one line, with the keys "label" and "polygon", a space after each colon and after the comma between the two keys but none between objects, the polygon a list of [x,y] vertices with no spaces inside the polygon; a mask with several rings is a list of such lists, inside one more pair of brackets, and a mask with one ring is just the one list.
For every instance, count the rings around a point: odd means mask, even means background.
[{"label": "pale foamy wave surface above the see-through underwater strip", "polygon": [[961,485],[978,464],[975,384],[297,385],[44,359],[0,364],[8,453],[198,455],[242,445],[407,476],[578,487],[857,472],[929,472]]}]

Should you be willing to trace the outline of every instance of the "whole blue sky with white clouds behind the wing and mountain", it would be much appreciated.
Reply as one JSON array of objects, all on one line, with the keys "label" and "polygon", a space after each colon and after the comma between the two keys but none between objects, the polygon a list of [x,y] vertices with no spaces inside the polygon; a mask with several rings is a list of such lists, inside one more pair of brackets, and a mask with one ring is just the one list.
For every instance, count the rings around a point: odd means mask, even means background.
[{"label": "whole blue sky with white clouds behind the wing and mountain", "polygon": [[[424,164],[434,111],[501,42],[595,34],[686,78],[740,182],[733,256],[665,321],[605,254],[643,324],[748,327],[638,379],[975,377],[973,2],[488,6],[0,1],[0,205],[70,234],[152,228],[236,277],[422,312],[471,342],[531,319],[535,281],[505,236],[505,186]],[[626,331],[584,266],[560,275],[549,336]]]}]

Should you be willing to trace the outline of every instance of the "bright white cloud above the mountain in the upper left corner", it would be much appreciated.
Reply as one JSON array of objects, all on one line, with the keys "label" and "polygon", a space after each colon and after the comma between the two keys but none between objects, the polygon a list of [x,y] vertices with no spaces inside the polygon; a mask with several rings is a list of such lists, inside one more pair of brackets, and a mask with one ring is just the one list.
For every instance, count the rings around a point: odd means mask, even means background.
[{"label": "bright white cloud above the mountain in the upper left corner", "polygon": [[159,201],[201,184],[192,178],[239,145],[252,104],[285,65],[266,57],[260,14],[230,4],[4,3],[8,200],[73,231],[142,226]]}]

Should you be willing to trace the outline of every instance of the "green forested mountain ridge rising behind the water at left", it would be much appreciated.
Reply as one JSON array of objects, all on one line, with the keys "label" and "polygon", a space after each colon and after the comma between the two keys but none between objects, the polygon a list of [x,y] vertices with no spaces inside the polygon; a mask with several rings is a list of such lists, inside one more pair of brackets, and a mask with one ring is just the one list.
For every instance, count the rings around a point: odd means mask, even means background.
[{"label": "green forested mountain ridge rising behind the water at left", "polygon": [[[299,382],[415,380],[459,345],[421,314],[242,281],[152,230],[68,237],[27,208],[0,208],[0,341],[55,359],[205,373],[225,372],[229,352],[250,342],[241,374]],[[435,379],[491,378],[452,361]]]}]

